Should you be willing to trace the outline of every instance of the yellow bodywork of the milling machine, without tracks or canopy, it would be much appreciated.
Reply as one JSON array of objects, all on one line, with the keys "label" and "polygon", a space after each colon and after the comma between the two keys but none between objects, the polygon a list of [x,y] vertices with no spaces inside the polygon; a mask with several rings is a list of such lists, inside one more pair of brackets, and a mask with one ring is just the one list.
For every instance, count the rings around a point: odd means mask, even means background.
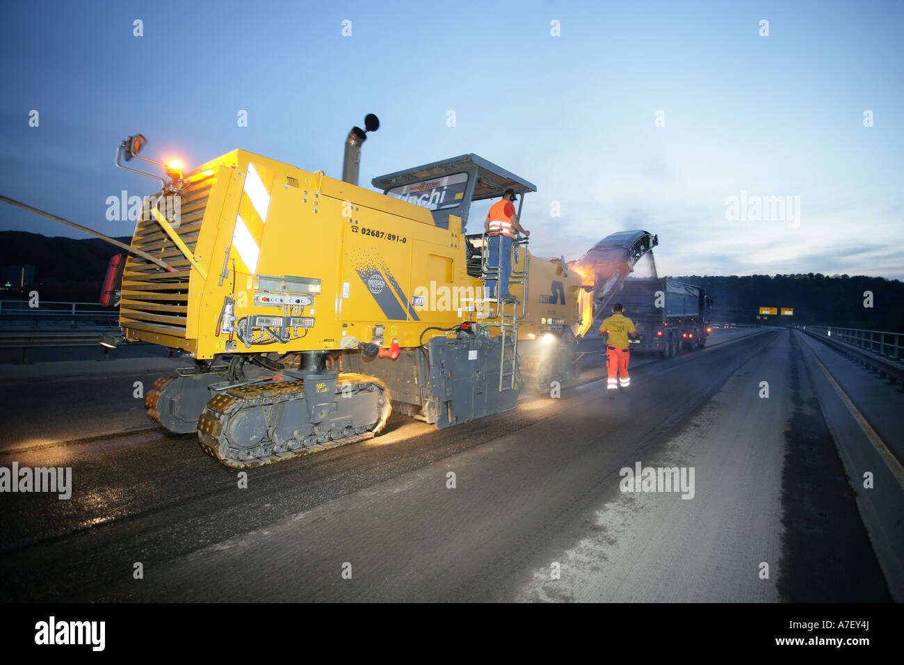
[{"label": "yellow bodywork of the milling machine, without tracks or canopy", "polygon": [[[393,340],[418,347],[443,334],[425,328],[467,321],[496,334],[499,306],[466,271],[456,216],[441,228],[419,205],[244,150],[184,180],[178,199],[151,197],[137,223],[132,246],[173,270],[128,258],[119,322],[130,340],[203,360]],[[580,274],[519,250],[519,340],[577,329],[587,316]]]}]

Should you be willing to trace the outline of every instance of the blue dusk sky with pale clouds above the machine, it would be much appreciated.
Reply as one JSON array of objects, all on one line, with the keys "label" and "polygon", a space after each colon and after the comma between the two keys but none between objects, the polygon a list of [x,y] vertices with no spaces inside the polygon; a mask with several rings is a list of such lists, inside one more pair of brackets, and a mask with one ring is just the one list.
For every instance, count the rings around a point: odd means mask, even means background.
[{"label": "blue dusk sky with pale clouds above the machine", "polygon": [[[574,259],[645,229],[661,274],[904,279],[904,2],[0,11],[0,193],[101,233],[134,227],[106,219],[108,196],[155,188],[113,166],[129,134],[186,166],[240,147],[339,177],[345,135],[372,112],[362,185],[474,152],[537,185],[522,219],[535,254]],[[790,205],[732,214],[742,196]],[[85,237],[0,205],[0,230]]]}]

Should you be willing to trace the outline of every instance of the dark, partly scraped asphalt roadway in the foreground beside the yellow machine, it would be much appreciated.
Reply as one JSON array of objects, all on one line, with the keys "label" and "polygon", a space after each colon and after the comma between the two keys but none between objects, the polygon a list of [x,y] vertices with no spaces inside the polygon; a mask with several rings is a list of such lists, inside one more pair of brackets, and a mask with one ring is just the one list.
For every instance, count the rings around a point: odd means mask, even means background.
[{"label": "dark, partly scraped asphalt roadway in the foreground beside the yellow machine", "polygon": [[[193,435],[0,451],[74,486],[0,495],[0,599],[890,600],[809,362],[765,331],[637,362],[613,400],[591,380],[444,431],[393,416],[247,489]],[[692,498],[622,491],[638,462],[692,469]]]}]

